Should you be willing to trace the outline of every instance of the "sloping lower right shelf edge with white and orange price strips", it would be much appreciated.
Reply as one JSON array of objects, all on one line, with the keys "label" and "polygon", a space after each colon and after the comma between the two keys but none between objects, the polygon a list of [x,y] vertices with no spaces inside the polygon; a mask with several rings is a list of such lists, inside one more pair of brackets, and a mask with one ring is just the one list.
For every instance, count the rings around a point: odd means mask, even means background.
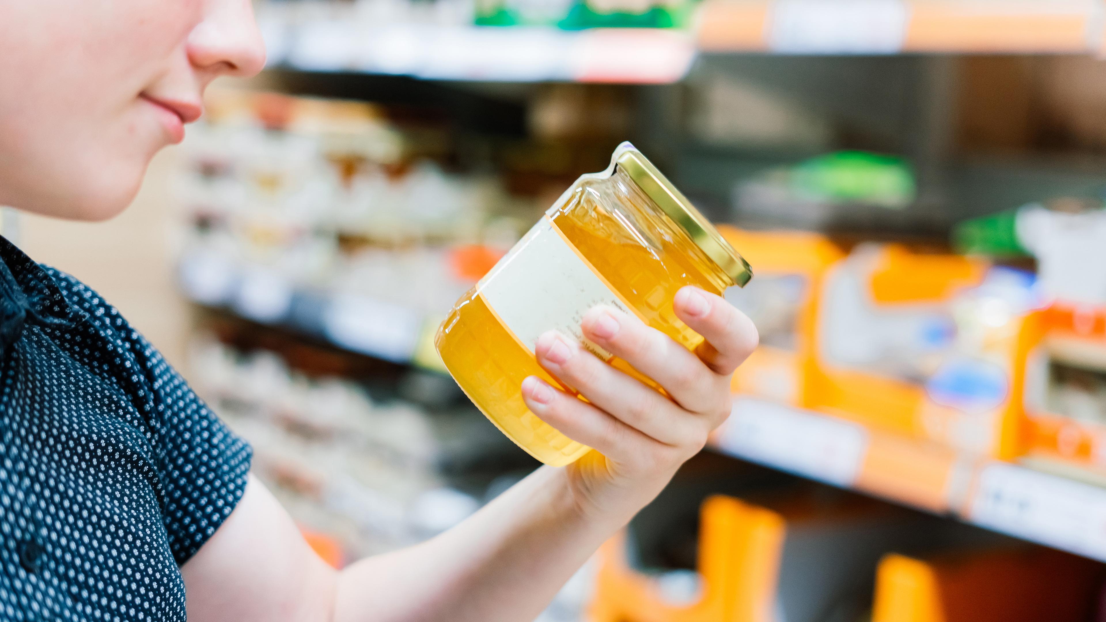
[{"label": "sloping lower right shelf edge with white and orange price strips", "polygon": [[712,446],[1106,561],[1106,488],[775,403],[739,397]]}]

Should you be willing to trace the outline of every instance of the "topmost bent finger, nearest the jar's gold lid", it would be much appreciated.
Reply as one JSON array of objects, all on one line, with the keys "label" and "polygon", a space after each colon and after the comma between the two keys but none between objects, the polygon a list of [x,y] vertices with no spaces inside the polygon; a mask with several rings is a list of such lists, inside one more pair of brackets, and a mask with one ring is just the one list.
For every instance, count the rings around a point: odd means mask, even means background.
[{"label": "topmost bent finger, nearest the jar's gold lid", "polygon": [[676,315],[707,341],[696,354],[716,373],[730,375],[757,349],[757,326],[723,298],[696,287],[676,292]]}]

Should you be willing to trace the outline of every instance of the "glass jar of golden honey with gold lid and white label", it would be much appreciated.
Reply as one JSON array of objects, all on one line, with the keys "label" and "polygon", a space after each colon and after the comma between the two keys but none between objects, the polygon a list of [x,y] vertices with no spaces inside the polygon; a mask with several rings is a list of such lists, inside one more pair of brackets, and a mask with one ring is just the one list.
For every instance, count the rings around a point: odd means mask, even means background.
[{"label": "glass jar of golden honey with gold lid and white label", "polygon": [[538,364],[538,338],[559,330],[641,377],[584,339],[584,313],[607,304],[693,350],[702,338],[676,317],[676,292],[697,286],[721,294],[750,278],[749,265],[713,225],[623,143],[605,172],[577,179],[457,302],[435,343],[449,373],[503,434],[539,460],[563,466],[589,447],[534,416],[523,402],[522,381],[530,375],[571,392]]}]

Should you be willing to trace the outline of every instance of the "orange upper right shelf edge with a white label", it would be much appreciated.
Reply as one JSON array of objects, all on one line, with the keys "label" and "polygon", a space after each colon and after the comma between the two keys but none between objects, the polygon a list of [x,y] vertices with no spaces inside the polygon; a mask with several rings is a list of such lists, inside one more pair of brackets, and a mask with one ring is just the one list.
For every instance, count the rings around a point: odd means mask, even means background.
[{"label": "orange upper right shelf edge with a white label", "polygon": [[1102,53],[1100,0],[706,0],[697,45],[782,54]]}]

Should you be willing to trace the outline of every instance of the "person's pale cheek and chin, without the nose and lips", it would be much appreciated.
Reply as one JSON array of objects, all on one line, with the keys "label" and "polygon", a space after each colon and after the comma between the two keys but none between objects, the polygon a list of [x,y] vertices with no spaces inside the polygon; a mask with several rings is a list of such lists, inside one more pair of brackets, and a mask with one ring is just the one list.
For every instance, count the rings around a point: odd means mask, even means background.
[{"label": "person's pale cheek and chin, without the nose and lips", "polygon": [[202,3],[2,3],[0,203],[71,218],[125,207],[164,141],[136,97],[180,66]]}]

